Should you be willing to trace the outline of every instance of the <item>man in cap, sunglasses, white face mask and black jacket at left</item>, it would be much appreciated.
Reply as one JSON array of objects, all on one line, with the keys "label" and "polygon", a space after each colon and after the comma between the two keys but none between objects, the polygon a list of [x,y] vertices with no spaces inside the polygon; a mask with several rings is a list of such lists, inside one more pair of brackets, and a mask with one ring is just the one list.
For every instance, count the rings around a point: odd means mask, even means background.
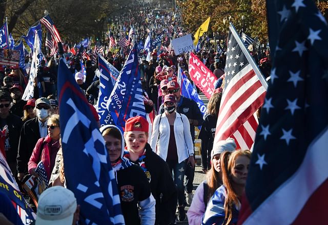
[{"label": "man in cap, sunglasses, white face mask and black jacket at left", "polygon": [[26,121],[20,131],[17,154],[17,171],[19,180],[22,180],[24,173],[27,172],[27,163],[30,160],[37,140],[45,138],[48,134],[47,120],[51,113],[49,100],[46,98],[37,99],[35,101],[34,111],[36,117]]}]

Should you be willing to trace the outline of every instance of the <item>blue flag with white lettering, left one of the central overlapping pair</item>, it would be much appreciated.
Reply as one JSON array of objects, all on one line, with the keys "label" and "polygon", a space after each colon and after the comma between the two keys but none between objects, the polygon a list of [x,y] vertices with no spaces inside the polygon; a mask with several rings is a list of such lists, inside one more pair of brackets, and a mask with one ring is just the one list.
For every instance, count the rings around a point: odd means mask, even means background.
[{"label": "blue flag with white lettering, left one of the central overlapping pair", "polygon": [[100,72],[97,103],[99,122],[100,125],[113,124],[110,111],[107,107],[107,102],[109,101],[109,96],[113,91],[119,72],[100,54],[98,54],[98,64]]}]

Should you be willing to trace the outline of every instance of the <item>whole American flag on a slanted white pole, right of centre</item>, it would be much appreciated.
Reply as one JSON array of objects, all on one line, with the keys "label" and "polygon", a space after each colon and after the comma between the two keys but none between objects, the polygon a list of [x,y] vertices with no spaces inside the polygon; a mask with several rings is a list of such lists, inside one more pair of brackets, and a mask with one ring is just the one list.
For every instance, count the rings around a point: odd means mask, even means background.
[{"label": "whole American flag on a slanted white pole, right of centre", "polygon": [[268,84],[232,24],[228,40],[213,149],[218,141],[229,137],[235,139],[238,148],[251,149],[258,125],[254,113],[263,104]]}]

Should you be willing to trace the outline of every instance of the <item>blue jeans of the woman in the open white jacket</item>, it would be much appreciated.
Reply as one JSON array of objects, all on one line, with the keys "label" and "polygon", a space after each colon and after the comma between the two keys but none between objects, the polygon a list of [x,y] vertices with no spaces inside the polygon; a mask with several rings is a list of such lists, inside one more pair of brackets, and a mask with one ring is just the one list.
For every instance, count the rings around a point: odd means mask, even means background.
[{"label": "blue jeans of the woman in the open white jacket", "polygon": [[183,187],[183,179],[185,178],[187,165],[186,161],[183,161],[181,163],[167,161],[167,164],[169,165],[171,175],[173,170],[174,184],[178,194],[178,204],[179,206],[182,206],[185,202],[185,188]]}]

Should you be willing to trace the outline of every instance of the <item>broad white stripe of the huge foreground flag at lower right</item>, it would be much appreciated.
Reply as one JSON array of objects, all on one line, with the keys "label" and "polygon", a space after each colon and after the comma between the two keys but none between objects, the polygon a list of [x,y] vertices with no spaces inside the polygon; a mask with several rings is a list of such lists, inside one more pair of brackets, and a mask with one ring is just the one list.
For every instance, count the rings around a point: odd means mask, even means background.
[{"label": "broad white stripe of the huge foreground flag at lower right", "polygon": [[[302,164],[293,176],[265,199],[245,221],[240,221],[240,224],[291,224],[311,195],[328,178],[326,140],[328,127],[309,145]],[[309,178],[311,182],[308,181]],[[279,216],[272,216],[273,212],[279,212]]]}]

